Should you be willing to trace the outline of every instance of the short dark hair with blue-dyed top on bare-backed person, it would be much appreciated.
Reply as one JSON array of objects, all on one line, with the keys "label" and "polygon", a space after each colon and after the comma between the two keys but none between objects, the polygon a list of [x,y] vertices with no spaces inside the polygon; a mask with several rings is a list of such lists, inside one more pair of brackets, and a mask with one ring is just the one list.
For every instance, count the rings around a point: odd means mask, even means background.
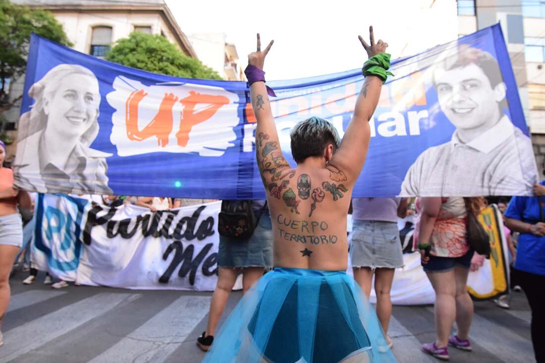
[{"label": "short dark hair with blue-dyed top on bare-backed person", "polygon": [[292,155],[298,164],[311,156],[323,156],[324,149],[332,144],[336,150],[341,138],[328,120],[313,116],[299,122],[290,132]]}]

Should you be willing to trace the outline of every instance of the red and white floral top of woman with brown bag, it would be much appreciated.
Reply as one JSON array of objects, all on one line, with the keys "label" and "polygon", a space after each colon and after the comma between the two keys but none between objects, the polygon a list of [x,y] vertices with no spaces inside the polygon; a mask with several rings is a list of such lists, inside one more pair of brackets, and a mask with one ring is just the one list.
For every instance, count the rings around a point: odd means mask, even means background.
[{"label": "red and white floral top of woman with brown bag", "polygon": [[[461,257],[469,251],[465,239],[467,225],[467,210],[464,198],[443,198],[443,204],[433,226],[429,239],[432,249],[429,252],[437,257]],[[420,198],[416,199],[416,210],[419,213],[415,226],[415,239],[420,231]]]}]

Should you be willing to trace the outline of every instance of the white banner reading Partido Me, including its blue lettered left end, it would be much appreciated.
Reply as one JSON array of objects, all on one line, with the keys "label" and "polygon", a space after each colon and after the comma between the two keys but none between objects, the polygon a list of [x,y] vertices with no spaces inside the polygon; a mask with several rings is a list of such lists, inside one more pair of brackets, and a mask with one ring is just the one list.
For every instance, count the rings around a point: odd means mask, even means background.
[{"label": "white banner reading Partido Me, including its blue lettered left end", "polygon": [[220,206],[152,212],[40,195],[32,261],[81,285],[213,291]]}]

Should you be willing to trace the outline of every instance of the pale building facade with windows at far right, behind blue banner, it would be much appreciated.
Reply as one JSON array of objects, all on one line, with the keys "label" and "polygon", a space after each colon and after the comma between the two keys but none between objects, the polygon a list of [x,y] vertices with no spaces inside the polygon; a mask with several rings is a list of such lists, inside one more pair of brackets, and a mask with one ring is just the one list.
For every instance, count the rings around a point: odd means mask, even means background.
[{"label": "pale building facade with windows at far right, behind blue banner", "polygon": [[458,0],[458,35],[501,23],[537,165],[545,162],[545,1]]}]

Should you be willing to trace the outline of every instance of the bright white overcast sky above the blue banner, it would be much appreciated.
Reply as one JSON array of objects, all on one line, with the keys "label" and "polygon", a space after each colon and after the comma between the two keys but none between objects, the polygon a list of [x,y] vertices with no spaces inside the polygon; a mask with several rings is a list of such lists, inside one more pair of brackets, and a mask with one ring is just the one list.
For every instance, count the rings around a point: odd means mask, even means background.
[{"label": "bright white overcast sky above the blue banner", "polygon": [[186,34],[221,32],[237,46],[243,67],[255,50],[275,44],[265,61],[268,80],[309,77],[360,68],[366,53],[358,35],[390,46],[392,59],[457,38],[455,0],[179,1],[166,0]]}]

